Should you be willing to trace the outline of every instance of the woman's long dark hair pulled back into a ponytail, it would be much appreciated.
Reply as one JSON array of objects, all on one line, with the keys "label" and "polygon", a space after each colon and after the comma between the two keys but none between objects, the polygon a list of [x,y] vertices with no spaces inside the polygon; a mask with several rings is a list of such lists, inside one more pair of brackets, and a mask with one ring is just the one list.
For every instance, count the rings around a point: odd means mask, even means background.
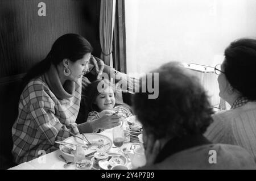
[{"label": "woman's long dark hair pulled back into a ponytail", "polygon": [[23,78],[22,86],[20,87],[19,94],[22,93],[24,87],[32,78],[39,77],[46,73],[51,64],[58,65],[64,58],[68,58],[72,62],[84,57],[86,53],[92,53],[93,48],[84,37],[68,33],[60,36],[52,45],[50,52],[44,60],[33,66],[26,76]]}]

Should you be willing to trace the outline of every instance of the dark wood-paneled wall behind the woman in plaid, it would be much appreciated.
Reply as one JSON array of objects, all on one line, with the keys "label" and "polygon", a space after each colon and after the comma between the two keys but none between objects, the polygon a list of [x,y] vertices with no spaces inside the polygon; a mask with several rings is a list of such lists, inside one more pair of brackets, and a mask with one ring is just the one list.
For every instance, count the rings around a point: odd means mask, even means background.
[{"label": "dark wood-paneled wall behind the woman in plaid", "polygon": [[[46,16],[38,15],[39,2],[46,3]],[[99,17],[100,0],[0,1],[0,159],[7,158],[2,153],[9,154],[12,146],[16,92],[24,73],[65,33],[84,36],[92,54],[100,57]]]}]

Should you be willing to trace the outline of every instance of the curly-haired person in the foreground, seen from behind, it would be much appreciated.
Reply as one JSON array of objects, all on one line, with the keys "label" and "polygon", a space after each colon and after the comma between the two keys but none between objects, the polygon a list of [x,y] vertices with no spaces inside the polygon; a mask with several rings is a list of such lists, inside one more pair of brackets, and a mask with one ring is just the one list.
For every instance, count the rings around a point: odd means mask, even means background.
[{"label": "curly-haired person in the foreground, seen from behind", "polygon": [[[212,144],[203,133],[212,123],[213,110],[198,79],[178,62],[151,71],[142,78],[159,85],[159,96],[150,92],[133,96],[135,115],[143,125],[147,163],[139,169],[255,169],[253,157],[240,146]],[[214,158],[215,154],[215,158]]]}]

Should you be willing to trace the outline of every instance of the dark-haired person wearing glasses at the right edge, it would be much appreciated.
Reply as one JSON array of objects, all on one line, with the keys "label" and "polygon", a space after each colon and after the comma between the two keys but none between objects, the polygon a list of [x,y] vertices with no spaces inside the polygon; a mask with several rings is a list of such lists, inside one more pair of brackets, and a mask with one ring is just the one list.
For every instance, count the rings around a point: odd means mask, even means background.
[{"label": "dark-haired person wearing glasses at the right edge", "polygon": [[238,39],[215,67],[220,97],[230,110],[213,115],[204,134],[212,142],[239,145],[256,158],[256,39]]}]

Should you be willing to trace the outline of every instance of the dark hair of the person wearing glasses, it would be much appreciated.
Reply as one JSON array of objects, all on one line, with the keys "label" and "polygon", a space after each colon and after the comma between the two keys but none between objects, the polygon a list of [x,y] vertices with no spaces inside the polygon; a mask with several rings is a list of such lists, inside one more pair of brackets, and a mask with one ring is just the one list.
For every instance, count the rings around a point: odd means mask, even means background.
[{"label": "dark hair of the person wearing glasses", "polygon": [[225,50],[223,63],[230,85],[249,100],[256,100],[256,39],[238,39]]}]

